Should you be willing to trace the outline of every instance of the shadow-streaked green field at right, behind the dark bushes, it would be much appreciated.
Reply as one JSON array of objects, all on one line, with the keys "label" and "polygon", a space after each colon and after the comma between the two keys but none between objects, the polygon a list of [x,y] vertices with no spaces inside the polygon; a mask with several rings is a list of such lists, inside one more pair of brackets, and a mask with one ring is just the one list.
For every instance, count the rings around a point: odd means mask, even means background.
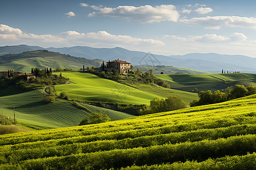
[{"label": "shadow-streaked green field at right, behind the dark bushes", "polygon": [[256,86],[256,74],[229,73],[229,74],[159,74],[154,75],[166,80],[171,88],[183,91],[224,90],[229,86],[243,84]]}]

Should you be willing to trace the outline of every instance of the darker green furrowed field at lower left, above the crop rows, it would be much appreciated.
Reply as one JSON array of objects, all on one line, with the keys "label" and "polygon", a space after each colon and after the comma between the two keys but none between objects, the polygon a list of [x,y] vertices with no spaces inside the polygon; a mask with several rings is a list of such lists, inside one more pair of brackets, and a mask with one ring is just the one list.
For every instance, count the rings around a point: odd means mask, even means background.
[{"label": "darker green furrowed field at lower left, above the crop rows", "polygon": [[83,104],[84,108],[81,108],[75,103],[61,99],[57,99],[55,103],[45,104],[42,97],[42,90],[0,97],[1,113],[14,117],[15,111],[18,125],[38,130],[77,126],[82,118],[90,116],[90,112],[102,111],[112,120],[133,117],[127,113],[86,104]]}]

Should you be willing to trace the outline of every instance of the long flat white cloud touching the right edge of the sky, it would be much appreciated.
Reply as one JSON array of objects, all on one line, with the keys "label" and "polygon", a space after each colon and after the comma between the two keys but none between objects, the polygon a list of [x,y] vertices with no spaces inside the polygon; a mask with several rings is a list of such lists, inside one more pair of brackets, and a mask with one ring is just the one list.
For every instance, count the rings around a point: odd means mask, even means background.
[{"label": "long flat white cloud touching the right edge of the sky", "polygon": [[256,18],[240,16],[207,16],[203,18],[180,19],[185,24],[203,25],[208,29],[226,27],[243,27],[256,29]]}]

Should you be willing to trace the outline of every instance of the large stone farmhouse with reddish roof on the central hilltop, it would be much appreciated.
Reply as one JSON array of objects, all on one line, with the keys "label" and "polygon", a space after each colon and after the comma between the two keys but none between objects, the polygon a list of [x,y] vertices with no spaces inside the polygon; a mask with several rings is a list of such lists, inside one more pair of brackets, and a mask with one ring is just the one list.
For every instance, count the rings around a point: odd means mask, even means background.
[{"label": "large stone farmhouse with reddish roof on the central hilltop", "polygon": [[115,59],[108,61],[106,66],[102,64],[102,69],[106,72],[117,72],[118,74],[127,74],[131,71],[131,63]]}]

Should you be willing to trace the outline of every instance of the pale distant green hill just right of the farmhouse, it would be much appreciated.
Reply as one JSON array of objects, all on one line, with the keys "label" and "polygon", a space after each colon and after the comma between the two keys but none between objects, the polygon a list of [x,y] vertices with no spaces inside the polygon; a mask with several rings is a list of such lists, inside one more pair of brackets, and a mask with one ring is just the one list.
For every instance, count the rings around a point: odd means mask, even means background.
[{"label": "pale distant green hill just right of the farmhouse", "polygon": [[194,69],[185,69],[181,67],[172,67],[172,66],[151,66],[151,65],[142,65],[142,66],[134,66],[134,71],[137,69],[142,72],[146,72],[150,69],[153,70],[153,74],[160,74],[163,72],[164,74],[176,74],[176,73],[193,73],[193,74],[205,74],[208,73],[206,71],[194,70]]}]

